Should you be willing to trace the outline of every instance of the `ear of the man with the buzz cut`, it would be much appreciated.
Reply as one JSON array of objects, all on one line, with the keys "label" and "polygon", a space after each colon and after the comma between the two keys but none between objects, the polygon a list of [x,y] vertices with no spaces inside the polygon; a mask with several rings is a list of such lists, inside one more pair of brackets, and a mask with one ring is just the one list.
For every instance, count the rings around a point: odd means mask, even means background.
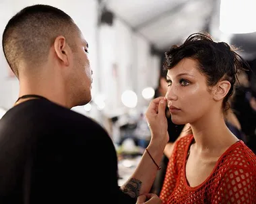
[{"label": "ear of the man with the buzz cut", "polygon": [[69,54],[70,54],[70,48],[67,45],[67,41],[65,37],[63,36],[58,36],[55,38],[54,42],[54,49],[57,54],[57,58],[65,65],[69,66]]}]

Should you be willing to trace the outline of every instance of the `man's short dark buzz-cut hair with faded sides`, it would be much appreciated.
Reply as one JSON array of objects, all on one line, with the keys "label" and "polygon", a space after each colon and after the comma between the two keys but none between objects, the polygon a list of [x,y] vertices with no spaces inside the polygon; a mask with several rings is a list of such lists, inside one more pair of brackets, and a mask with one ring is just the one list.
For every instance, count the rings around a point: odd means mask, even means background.
[{"label": "man's short dark buzz-cut hair with faded sides", "polygon": [[69,35],[77,28],[64,11],[49,5],[32,5],[15,14],[3,32],[3,53],[19,76],[21,64],[40,66],[46,61],[57,36]]}]

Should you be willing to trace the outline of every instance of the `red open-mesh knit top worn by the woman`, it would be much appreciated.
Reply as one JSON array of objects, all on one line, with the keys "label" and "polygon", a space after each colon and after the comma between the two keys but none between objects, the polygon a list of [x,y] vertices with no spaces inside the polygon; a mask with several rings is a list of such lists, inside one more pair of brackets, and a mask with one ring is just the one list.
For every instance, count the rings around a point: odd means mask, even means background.
[{"label": "red open-mesh knit top worn by the woman", "polygon": [[189,187],[185,177],[191,142],[193,136],[185,136],[174,147],[160,193],[163,203],[256,204],[256,156],[243,141],[230,146],[197,187]]}]

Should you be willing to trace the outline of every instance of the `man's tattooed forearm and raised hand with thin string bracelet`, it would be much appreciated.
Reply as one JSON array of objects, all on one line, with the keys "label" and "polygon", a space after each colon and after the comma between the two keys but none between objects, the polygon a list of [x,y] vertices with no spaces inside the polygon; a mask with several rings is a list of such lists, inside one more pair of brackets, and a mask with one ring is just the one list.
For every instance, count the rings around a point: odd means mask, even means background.
[{"label": "man's tattooed forearm and raised hand with thin string bracelet", "polygon": [[[166,100],[164,97],[154,99],[146,112],[152,138],[147,151],[144,152],[139,165],[129,180],[121,187],[124,193],[133,198],[149,193],[158,165],[162,159],[164,147],[168,141],[167,120],[165,116]],[[152,156],[152,158],[150,157]],[[156,162],[156,164],[154,163]]]}]

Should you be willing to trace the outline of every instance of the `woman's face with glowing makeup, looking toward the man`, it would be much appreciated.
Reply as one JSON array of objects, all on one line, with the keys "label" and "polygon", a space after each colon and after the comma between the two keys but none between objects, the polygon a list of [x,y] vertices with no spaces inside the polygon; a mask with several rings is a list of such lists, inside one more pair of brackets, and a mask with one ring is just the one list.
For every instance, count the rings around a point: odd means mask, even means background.
[{"label": "woman's face with glowing makeup, looking toward the man", "polygon": [[173,123],[193,123],[210,113],[214,99],[196,60],[184,58],[168,70],[166,80],[166,99]]}]

